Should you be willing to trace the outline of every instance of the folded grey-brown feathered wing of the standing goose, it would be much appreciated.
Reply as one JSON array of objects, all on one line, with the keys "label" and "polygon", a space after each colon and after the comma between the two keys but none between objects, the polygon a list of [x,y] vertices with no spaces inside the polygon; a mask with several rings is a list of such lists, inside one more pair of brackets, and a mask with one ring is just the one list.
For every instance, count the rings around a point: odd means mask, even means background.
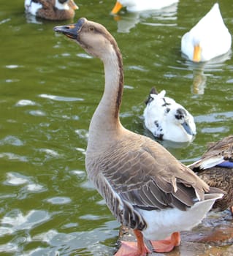
[{"label": "folded grey-brown feathered wing of the standing goose", "polygon": [[204,198],[209,190],[204,181],[158,143],[137,136],[118,141],[102,166],[102,175],[123,202],[148,210],[186,210]]}]

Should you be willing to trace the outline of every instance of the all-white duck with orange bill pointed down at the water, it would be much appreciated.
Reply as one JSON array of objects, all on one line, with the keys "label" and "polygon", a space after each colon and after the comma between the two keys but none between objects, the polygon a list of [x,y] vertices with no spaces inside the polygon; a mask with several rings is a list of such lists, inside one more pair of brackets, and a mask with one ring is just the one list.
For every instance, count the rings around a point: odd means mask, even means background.
[{"label": "all-white duck with orange bill pointed down at the water", "polygon": [[181,39],[181,52],[194,62],[224,55],[231,46],[232,35],[224,24],[218,3]]}]

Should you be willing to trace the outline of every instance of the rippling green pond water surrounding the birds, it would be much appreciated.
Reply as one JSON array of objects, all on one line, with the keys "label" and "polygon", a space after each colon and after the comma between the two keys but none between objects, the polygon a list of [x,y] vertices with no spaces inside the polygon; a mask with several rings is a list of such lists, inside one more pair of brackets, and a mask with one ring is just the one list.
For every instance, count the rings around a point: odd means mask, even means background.
[{"label": "rippling green pond water surrounding the birds", "polygon": [[[233,3],[218,2],[232,33]],[[80,0],[74,20],[102,23],[121,48],[125,127],[151,136],[142,112],[152,86],[194,115],[193,143],[163,143],[188,163],[207,142],[233,133],[231,53],[204,67],[180,53],[182,35],[214,3],[180,0],[177,10],[121,12],[116,21],[115,1]],[[103,90],[102,63],[53,32],[73,20],[26,17],[23,0],[0,7],[0,254],[112,255],[119,224],[88,182],[84,163],[88,124]]]}]

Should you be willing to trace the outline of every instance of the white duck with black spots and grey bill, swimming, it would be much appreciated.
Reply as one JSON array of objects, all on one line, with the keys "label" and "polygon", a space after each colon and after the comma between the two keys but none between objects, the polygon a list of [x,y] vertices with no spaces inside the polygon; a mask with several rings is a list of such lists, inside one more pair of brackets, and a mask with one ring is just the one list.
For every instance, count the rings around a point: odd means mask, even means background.
[{"label": "white duck with black spots and grey bill, swimming", "polygon": [[160,140],[191,142],[196,135],[194,117],[165,94],[165,90],[158,93],[155,87],[151,89],[143,113],[145,127]]}]

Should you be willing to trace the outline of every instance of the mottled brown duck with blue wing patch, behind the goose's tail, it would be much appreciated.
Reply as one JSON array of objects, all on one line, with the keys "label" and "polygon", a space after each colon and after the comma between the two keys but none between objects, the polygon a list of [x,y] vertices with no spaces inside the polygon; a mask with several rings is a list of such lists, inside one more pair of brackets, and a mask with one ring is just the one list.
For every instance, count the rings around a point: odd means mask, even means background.
[{"label": "mottled brown duck with blue wing patch, behind the goose's tail", "polygon": [[212,210],[230,208],[233,215],[233,135],[209,143],[202,157],[188,167],[209,186],[226,192],[221,200],[216,200]]}]

